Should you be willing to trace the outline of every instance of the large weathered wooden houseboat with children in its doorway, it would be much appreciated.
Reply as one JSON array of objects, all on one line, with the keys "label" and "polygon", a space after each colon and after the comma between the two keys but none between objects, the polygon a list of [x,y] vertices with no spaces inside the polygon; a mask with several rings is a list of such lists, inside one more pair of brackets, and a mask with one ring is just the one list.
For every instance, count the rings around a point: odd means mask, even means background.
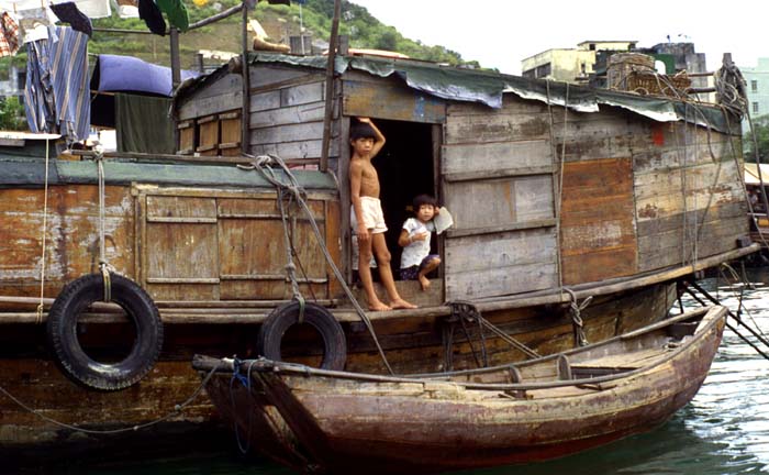
[{"label": "large weathered wooden houseboat with children in its doorway", "polygon": [[[271,345],[395,375],[557,354],[664,319],[679,281],[758,248],[739,120],[723,108],[403,58],[326,63],[250,54],[189,80],[176,154],[2,139],[0,448],[216,423],[204,393],[190,399],[194,354]],[[357,305],[358,117],[387,137],[374,165],[390,265],[414,196],[454,218],[431,288],[397,283],[415,310]]]}]

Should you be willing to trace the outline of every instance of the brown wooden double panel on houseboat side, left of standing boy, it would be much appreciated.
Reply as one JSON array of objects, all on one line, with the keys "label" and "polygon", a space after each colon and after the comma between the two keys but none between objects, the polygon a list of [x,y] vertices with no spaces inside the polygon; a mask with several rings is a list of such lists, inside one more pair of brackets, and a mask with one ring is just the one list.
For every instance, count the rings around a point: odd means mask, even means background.
[{"label": "brown wooden double panel on houseboat side, left of standing boy", "polygon": [[[143,236],[143,280],[160,300],[289,299],[287,253],[280,211],[274,192],[225,190],[144,190],[138,200],[146,219]],[[330,201],[332,200],[332,201]],[[338,202],[311,194],[309,206],[326,230],[338,265]],[[327,298],[331,270],[310,221],[296,211],[293,231],[297,278],[308,296]]]}]

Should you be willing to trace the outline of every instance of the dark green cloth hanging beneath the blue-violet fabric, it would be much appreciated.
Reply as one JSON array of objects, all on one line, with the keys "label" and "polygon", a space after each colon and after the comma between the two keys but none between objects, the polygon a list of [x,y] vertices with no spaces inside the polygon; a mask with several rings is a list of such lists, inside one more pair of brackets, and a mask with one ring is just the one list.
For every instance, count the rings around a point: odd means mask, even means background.
[{"label": "dark green cloth hanging beneath the blue-violet fabric", "polygon": [[176,153],[171,98],[116,93],[115,133],[119,152]]}]

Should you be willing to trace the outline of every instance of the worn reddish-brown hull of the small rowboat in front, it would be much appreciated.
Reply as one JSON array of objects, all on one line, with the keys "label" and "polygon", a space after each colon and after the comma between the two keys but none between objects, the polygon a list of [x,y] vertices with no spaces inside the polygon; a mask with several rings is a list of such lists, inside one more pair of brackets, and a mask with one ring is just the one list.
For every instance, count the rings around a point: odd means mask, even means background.
[{"label": "worn reddish-brown hull of the small rowboat in front", "polygon": [[[214,377],[209,394],[241,434],[250,434],[253,446],[298,467],[424,473],[526,463],[665,422],[702,385],[724,324],[725,309],[711,310],[695,338],[665,361],[549,397],[533,389],[530,396],[509,390],[508,397],[490,398],[450,383],[361,382],[349,374],[285,374],[279,367],[250,373],[250,397],[239,385],[233,393],[231,375]],[[270,452],[276,440],[283,444]]]}]

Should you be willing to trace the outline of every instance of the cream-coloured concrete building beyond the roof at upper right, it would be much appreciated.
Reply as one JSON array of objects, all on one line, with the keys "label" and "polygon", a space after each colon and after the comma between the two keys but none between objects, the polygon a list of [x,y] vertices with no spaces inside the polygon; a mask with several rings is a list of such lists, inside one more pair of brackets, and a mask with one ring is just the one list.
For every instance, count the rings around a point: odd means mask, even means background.
[{"label": "cream-coloured concrete building beyond the roof at upper right", "polygon": [[567,82],[587,82],[594,73],[595,54],[599,51],[626,52],[635,48],[637,41],[583,41],[577,48],[547,49],[521,62],[523,77],[549,78]]}]

